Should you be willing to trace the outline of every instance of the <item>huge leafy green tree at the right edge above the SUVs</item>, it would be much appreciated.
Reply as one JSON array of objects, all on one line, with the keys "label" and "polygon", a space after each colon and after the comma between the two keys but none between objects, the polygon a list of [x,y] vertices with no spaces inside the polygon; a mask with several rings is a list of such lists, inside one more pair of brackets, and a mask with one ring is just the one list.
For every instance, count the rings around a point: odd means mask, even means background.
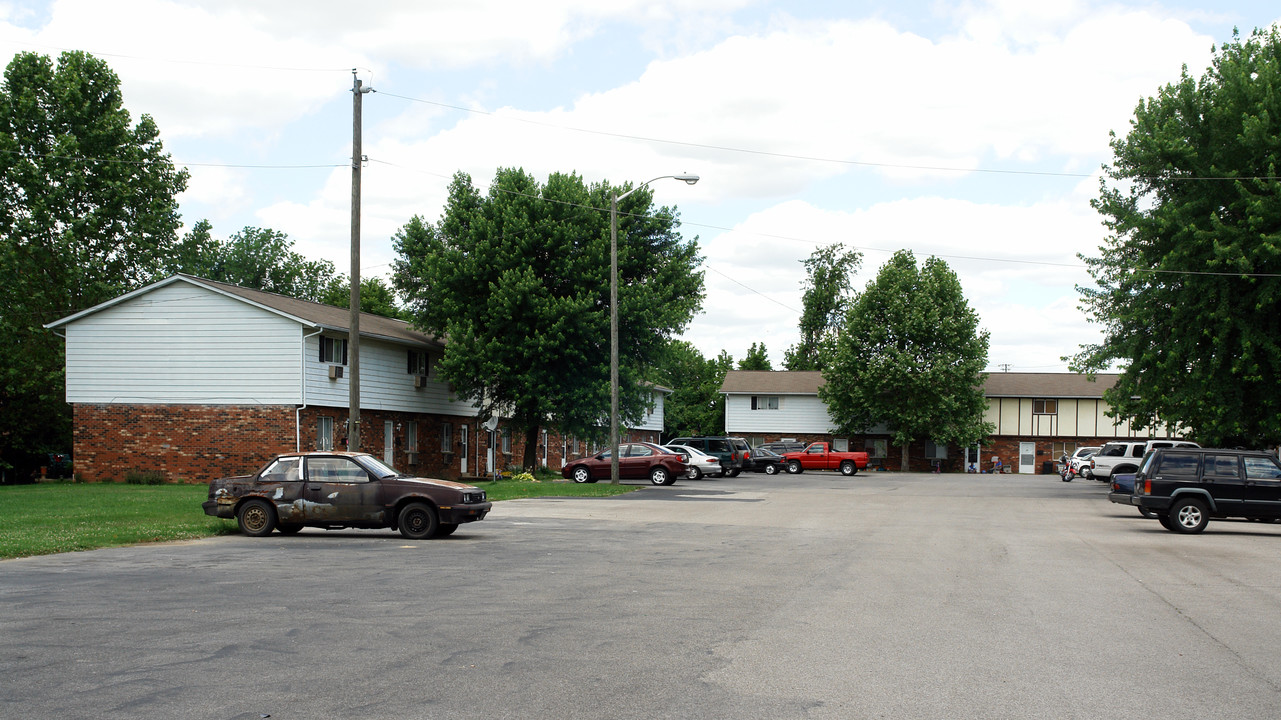
[{"label": "huge leafy green tree at the right edge above the SUVs", "polygon": [[1120,366],[1104,393],[1135,428],[1203,445],[1281,442],[1281,31],[1141,101],[1112,137],[1094,208],[1109,231],[1080,288],[1103,341],[1072,359]]}]

